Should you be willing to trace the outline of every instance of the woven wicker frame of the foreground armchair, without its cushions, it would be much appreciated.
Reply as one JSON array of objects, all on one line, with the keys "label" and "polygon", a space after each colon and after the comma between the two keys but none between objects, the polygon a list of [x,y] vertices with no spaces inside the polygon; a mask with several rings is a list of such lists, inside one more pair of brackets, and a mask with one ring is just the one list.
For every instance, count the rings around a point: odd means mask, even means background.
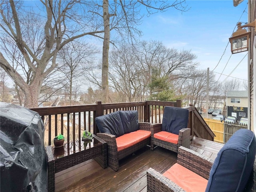
[{"label": "woven wicker frame of the foreground armchair, without its cushions", "polygon": [[[214,161],[193,150],[181,146],[178,150],[177,163],[208,180]],[[180,186],[176,185],[152,168],[149,168],[146,174],[147,192],[184,192]],[[256,160],[254,161],[254,168],[244,192],[253,191],[256,191]]]}]

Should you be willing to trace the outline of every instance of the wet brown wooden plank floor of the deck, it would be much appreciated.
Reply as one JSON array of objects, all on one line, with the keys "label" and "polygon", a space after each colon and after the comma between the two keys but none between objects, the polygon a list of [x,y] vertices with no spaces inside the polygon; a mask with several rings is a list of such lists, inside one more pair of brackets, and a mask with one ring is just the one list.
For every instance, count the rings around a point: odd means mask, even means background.
[{"label": "wet brown wooden plank floor of the deck", "polygon": [[[191,149],[214,160],[218,151],[223,146],[216,142],[194,138]],[[177,161],[177,154],[157,147],[151,151],[149,147],[137,151],[135,154],[121,160],[120,169],[115,172],[111,168],[102,169],[95,160],[85,162],[77,170],[85,171],[77,173],[84,178],[77,180],[75,174],[70,175],[66,181],[58,183],[58,177],[62,172],[56,174],[56,191],[59,192],[146,192],[146,170],[154,168],[164,173]],[[64,188],[66,185],[68,187]]]}]

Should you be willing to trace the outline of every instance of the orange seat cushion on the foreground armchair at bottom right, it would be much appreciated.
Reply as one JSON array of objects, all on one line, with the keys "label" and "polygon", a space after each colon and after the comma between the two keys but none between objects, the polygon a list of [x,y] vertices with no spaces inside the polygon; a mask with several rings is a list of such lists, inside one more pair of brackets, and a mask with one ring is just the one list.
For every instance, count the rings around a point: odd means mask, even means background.
[{"label": "orange seat cushion on the foreground armchair at bottom right", "polygon": [[172,180],[186,192],[205,192],[208,182],[205,178],[178,163],[164,172],[163,176]]}]

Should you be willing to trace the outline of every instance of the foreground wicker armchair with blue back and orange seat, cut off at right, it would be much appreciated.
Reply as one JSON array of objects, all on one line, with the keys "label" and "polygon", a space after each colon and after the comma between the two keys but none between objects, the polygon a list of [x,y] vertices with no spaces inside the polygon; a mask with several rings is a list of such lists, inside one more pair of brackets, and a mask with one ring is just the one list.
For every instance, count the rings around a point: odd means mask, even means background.
[{"label": "foreground wicker armchair with blue back and orange seat, cut off at right", "polygon": [[[147,191],[256,191],[255,155],[255,135],[247,129],[238,130],[218,152],[214,162],[181,146],[177,163],[164,174],[152,168],[147,170]],[[186,170],[181,171],[180,167]]]}]

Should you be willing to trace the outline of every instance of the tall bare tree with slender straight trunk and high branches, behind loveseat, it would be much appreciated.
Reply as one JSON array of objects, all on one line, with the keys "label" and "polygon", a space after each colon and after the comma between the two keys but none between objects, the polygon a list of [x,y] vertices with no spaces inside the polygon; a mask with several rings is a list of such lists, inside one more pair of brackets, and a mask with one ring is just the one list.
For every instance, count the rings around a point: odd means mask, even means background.
[{"label": "tall bare tree with slender straight trunk and high branches, behind loveseat", "polygon": [[[108,54],[110,47],[110,31],[115,30],[123,39],[133,41],[136,35],[141,35],[140,30],[136,28],[142,21],[144,15],[140,14],[140,9],[145,8],[147,16],[156,12],[163,12],[168,8],[175,8],[180,11],[186,11],[183,6],[185,0],[176,0],[169,3],[168,0],[137,0],[125,1],[116,0],[109,3],[108,0],[103,0],[102,5],[97,4],[98,10],[92,11],[94,14],[100,15],[104,22],[104,37],[103,37],[103,52],[102,52],[102,83],[103,102],[109,101],[108,90]],[[99,9],[102,8],[102,12]],[[114,40],[112,40],[114,42]]]}]

